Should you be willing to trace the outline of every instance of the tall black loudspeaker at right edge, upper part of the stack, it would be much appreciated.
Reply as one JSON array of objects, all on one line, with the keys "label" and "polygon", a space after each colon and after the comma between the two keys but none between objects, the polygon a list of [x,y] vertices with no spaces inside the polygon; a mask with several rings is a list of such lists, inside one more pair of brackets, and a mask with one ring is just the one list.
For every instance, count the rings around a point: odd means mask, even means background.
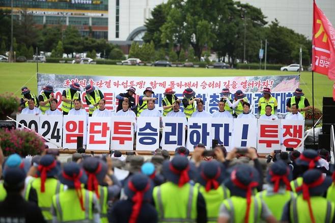
[{"label": "tall black loudspeaker at right edge, upper part of the stack", "polygon": [[329,134],[330,126],[335,127],[335,101],[330,97],[323,97],[322,102],[322,132]]}]

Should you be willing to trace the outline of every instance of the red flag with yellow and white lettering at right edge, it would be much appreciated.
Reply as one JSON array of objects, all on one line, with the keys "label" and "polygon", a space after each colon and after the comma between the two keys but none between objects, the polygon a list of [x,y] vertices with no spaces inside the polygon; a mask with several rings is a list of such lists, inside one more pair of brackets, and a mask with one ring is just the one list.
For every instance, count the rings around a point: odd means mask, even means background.
[{"label": "red flag with yellow and white lettering at right edge", "polygon": [[335,30],[315,1],[313,4],[312,70],[335,80]]}]

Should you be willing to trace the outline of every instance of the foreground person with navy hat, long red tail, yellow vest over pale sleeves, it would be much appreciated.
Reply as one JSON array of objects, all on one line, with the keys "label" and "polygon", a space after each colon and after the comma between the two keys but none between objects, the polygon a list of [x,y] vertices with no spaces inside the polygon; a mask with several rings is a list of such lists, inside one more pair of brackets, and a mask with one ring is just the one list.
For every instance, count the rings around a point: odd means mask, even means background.
[{"label": "foreground person with navy hat, long red tail, yellow vest over pale sleeves", "polygon": [[[221,222],[277,222],[267,205],[252,195],[258,186],[259,174],[247,164],[234,166],[225,185],[231,197],[222,202],[218,221]],[[256,215],[256,216],[255,216]]]}]

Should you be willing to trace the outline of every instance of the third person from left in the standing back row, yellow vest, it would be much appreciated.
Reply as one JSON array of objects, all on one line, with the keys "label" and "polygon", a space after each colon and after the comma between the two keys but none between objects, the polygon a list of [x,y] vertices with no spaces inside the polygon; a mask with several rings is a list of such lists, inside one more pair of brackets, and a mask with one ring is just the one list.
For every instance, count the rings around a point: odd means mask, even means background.
[{"label": "third person from left in the standing back row, yellow vest", "polygon": [[80,100],[80,85],[77,82],[71,83],[70,87],[62,93],[62,110],[63,115],[68,115],[74,107],[74,100]]}]

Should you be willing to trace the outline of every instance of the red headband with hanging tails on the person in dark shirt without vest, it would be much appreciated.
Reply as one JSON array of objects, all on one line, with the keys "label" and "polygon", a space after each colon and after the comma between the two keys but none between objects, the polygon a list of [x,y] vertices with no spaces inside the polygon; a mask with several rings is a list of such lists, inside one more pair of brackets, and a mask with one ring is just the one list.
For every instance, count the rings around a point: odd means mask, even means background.
[{"label": "red headband with hanging tails on the person in dark shirt without vest", "polygon": [[134,205],[132,206],[129,223],[136,223],[139,211],[141,211],[144,193],[149,190],[150,182],[148,181],[147,186],[143,190],[137,190],[134,184],[129,180],[128,187],[131,191],[135,192],[135,195],[131,199],[132,202],[134,202]]}]

